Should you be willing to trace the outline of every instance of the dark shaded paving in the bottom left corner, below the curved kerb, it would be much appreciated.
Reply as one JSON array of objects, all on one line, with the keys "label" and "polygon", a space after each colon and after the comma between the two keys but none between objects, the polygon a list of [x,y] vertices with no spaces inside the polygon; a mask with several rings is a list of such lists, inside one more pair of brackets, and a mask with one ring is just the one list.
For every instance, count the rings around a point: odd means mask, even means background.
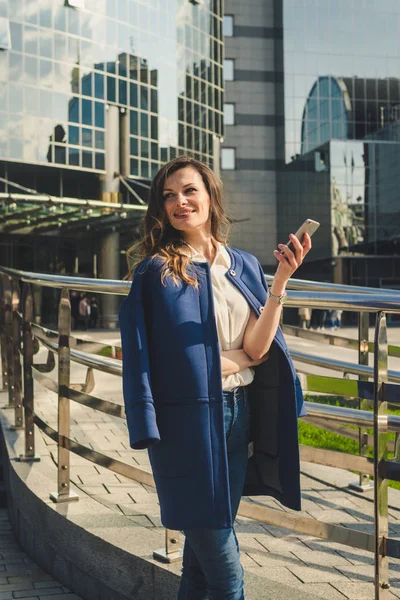
[{"label": "dark shaded paving in the bottom left corner, below the curved kerb", "polygon": [[6,509],[0,509],[0,600],[82,600],[21,550]]}]

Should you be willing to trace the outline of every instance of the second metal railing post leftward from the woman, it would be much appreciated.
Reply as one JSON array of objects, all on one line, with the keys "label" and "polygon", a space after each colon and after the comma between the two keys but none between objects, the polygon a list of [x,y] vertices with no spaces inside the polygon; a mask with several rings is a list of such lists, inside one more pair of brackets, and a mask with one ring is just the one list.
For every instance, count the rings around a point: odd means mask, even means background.
[{"label": "second metal railing post leftward from the woman", "polygon": [[35,454],[34,394],[33,394],[33,337],[31,323],[33,321],[33,296],[29,283],[24,283],[22,290],[22,342],[24,360],[24,416],[25,416],[25,454],[20,454],[20,461],[39,461]]}]

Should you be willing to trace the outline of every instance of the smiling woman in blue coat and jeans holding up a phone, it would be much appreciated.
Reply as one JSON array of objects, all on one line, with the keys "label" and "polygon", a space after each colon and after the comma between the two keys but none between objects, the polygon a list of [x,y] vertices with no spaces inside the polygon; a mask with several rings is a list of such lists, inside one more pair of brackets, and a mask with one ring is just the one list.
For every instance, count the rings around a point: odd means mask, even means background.
[{"label": "smiling woman in blue coat and jeans holding up a phone", "polygon": [[280,244],[270,291],[257,259],[226,245],[221,186],[180,157],[151,186],[120,310],[132,448],[148,448],[169,529],[185,534],[178,600],[240,600],[240,497],[300,510],[298,377],[279,328],[285,286],[311,247]]}]

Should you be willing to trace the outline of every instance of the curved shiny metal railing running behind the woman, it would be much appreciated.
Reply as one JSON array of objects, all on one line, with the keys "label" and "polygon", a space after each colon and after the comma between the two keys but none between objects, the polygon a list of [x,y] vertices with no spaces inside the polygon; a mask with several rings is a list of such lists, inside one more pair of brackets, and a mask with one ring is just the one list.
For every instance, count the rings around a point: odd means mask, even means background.
[{"label": "curved shiny metal railing running behind the woman", "polygon": [[[34,323],[32,285],[61,289],[58,331],[46,329]],[[267,508],[256,502],[242,501],[239,514],[258,521],[291,529],[299,533],[314,535],[355,548],[362,548],[375,556],[375,598],[386,600],[389,589],[388,557],[400,557],[400,541],[388,535],[388,479],[400,481],[400,417],[388,415],[388,403],[400,404],[400,373],[388,371],[387,331],[385,313],[400,314],[400,293],[394,290],[368,288],[345,288],[334,284],[305,282],[301,289],[299,280],[292,280],[291,286],[297,290],[289,292],[290,306],[316,308],[341,308],[359,313],[358,340],[323,334],[284,326],[287,333],[326,344],[347,346],[358,349],[358,364],[345,361],[323,359],[301,352],[292,352],[294,360],[300,364],[308,391],[337,394],[358,398],[359,407],[346,408],[307,402],[306,421],[341,435],[353,438],[358,436],[360,455],[350,455],[332,450],[301,446],[304,461],[349,469],[360,473],[359,489],[365,489],[373,476],[374,489],[374,534],[359,532],[347,527],[322,523],[302,515]],[[35,429],[39,427],[58,445],[57,491],[51,498],[55,502],[77,500],[78,496],[70,488],[70,452],[128,477],[144,485],[154,486],[150,472],[126,464],[115,458],[83,446],[70,438],[70,401],[119,418],[125,418],[123,406],[93,395],[94,370],[122,376],[122,363],[114,358],[102,356],[111,349],[106,344],[92,340],[80,340],[71,336],[71,305],[69,290],[126,295],[129,282],[93,280],[77,277],[54,276],[27,273],[0,267],[0,341],[3,386],[8,389],[8,408],[15,412],[16,429],[25,430],[25,451],[21,460],[40,460],[35,454]],[[22,286],[22,297],[21,296]],[[314,291],[312,287],[319,288]],[[20,312],[20,308],[22,311]],[[369,314],[376,314],[374,342],[368,340]],[[35,364],[33,355],[35,344],[42,344],[48,350],[45,363]],[[36,348],[37,349],[37,348]],[[115,350],[115,349],[114,349]],[[21,369],[21,353],[23,369]],[[373,354],[374,366],[368,366],[369,353]],[[58,356],[58,378],[54,380],[47,373],[54,370]],[[391,347],[389,354],[400,356],[400,349]],[[83,383],[71,384],[71,362],[87,368]],[[317,365],[329,371],[338,371],[344,378],[315,375],[307,365]],[[350,377],[353,377],[352,379]],[[33,381],[56,393],[58,396],[58,430],[52,428],[34,410]],[[23,386],[22,386],[23,382]],[[23,399],[22,399],[23,390]],[[373,409],[373,410],[372,410]],[[343,427],[355,425],[359,431]],[[373,429],[373,435],[368,430]],[[388,432],[396,432],[394,444],[388,444]],[[373,458],[368,457],[368,448],[373,445]],[[388,450],[394,451],[394,459],[388,460]],[[177,551],[178,533],[166,530],[165,548],[155,552],[155,556],[167,562],[180,560]]]}]

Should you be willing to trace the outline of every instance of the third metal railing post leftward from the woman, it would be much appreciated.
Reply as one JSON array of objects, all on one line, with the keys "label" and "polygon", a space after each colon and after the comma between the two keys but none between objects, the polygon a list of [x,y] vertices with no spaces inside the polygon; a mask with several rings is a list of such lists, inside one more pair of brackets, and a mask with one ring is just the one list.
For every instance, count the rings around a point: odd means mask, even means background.
[{"label": "third metal railing post leftward from the woman", "polygon": [[21,369],[21,326],[18,315],[19,308],[19,283],[16,279],[11,281],[11,340],[12,340],[12,362],[13,362],[13,386],[14,386],[14,419],[15,424],[10,429],[18,430],[24,427],[24,414],[22,408],[22,369]]}]

